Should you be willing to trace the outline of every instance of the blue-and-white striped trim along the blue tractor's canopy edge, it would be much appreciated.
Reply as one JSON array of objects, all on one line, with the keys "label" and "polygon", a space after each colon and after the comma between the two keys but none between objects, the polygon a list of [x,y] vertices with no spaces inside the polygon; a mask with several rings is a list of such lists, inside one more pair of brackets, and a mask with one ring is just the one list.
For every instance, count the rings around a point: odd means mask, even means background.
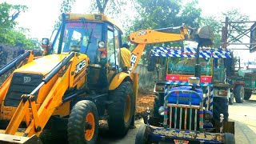
[{"label": "blue-and-white striped trim along the blue tractor's canopy edge", "polygon": [[[196,48],[172,49],[168,47],[157,47],[151,50],[151,56],[155,57],[176,57],[176,58],[196,58]],[[200,58],[231,58],[230,50],[207,49],[199,51]]]}]

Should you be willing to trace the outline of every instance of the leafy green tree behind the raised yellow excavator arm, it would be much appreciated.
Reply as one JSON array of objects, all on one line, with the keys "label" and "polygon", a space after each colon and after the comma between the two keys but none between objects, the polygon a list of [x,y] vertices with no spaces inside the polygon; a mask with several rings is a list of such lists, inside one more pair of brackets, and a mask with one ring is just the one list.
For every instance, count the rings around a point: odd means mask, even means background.
[{"label": "leafy green tree behind the raised yellow excavator arm", "polygon": [[[197,7],[198,1],[187,2],[182,0],[136,0],[138,4],[138,17],[135,18],[133,26],[128,30],[131,32],[142,29],[159,29],[165,27],[182,26],[185,23],[191,27],[199,26],[201,9]],[[173,33],[179,33],[174,31]],[[183,42],[165,42],[164,44],[154,44],[154,46],[184,46]],[[146,54],[142,55],[143,63],[148,61],[148,55],[153,46],[146,47]]]}]

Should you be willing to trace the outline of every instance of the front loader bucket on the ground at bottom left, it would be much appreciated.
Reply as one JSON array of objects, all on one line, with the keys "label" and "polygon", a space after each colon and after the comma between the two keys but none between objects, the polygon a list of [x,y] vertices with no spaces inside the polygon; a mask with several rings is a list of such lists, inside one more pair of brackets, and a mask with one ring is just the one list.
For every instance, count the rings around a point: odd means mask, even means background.
[{"label": "front loader bucket on the ground at bottom left", "polygon": [[10,134],[0,134],[0,143],[8,144],[42,144],[41,140],[38,138],[37,135],[33,135],[32,137],[22,137],[17,135],[10,135]]}]

